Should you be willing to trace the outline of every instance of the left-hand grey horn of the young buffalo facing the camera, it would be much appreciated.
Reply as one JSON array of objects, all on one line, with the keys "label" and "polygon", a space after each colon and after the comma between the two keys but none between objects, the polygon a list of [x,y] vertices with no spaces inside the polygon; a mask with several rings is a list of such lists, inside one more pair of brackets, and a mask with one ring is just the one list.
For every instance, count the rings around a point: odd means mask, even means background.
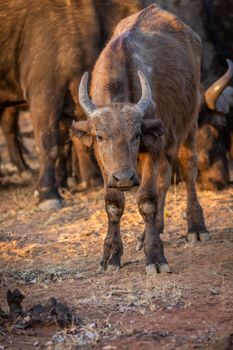
[{"label": "left-hand grey horn of the young buffalo facing the camera", "polygon": [[88,91],[87,91],[87,84],[88,84],[88,72],[85,72],[82,76],[82,79],[79,84],[78,89],[78,99],[80,106],[86,113],[88,117],[91,117],[93,112],[97,109],[95,104],[91,101]]}]

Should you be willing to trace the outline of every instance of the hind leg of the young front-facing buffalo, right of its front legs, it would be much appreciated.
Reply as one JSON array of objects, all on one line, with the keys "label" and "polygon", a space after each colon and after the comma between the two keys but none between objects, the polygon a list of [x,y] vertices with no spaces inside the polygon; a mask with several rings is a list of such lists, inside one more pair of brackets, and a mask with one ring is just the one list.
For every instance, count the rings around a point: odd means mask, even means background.
[{"label": "hind leg of the young front-facing buffalo, right of its front legs", "polygon": [[209,233],[205,226],[202,207],[198,201],[196,193],[196,145],[195,128],[191,130],[186,141],[179,149],[179,161],[182,178],[187,189],[187,221],[188,221],[188,241],[209,240]]}]

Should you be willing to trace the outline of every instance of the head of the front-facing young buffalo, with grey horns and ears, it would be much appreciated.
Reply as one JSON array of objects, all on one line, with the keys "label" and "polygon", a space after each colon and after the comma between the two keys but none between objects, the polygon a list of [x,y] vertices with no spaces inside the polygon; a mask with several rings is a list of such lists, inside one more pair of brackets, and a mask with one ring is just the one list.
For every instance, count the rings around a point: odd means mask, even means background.
[{"label": "head of the front-facing young buffalo, with grey horns and ears", "polygon": [[88,119],[73,124],[73,133],[91,144],[94,140],[96,155],[106,185],[122,191],[139,185],[136,164],[140,140],[146,134],[155,142],[164,132],[161,120],[143,119],[153,104],[150,85],[142,72],[138,72],[142,94],[136,104],[111,103],[97,107],[88,95],[88,73],[79,86],[79,102]]}]

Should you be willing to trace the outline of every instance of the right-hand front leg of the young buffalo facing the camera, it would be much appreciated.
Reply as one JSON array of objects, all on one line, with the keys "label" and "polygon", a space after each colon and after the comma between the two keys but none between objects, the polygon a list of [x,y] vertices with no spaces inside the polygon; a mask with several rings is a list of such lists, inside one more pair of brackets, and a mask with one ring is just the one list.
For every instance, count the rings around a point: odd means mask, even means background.
[{"label": "right-hand front leg of the young buffalo facing the camera", "polygon": [[[164,256],[163,243],[156,228],[157,193],[156,193],[156,166],[149,154],[141,154],[141,184],[137,194],[137,203],[140,214],[145,221],[144,252],[146,256],[147,273],[170,272]],[[143,159],[142,159],[143,158]]]}]

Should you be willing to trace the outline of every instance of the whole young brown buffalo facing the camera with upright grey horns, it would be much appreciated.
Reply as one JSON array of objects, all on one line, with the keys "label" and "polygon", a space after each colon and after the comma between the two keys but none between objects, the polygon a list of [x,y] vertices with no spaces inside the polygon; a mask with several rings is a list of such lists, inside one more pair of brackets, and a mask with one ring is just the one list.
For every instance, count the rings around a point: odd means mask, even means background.
[{"label": "whole young brown buffalo facing the camera with upright grey horns", "polygon": [[120,267],[124,191],[139,186],[145,221],[139,248],[144,247],[146,271],[170,272],[160,233],[177,154],[188,194],[188,240],[209,239],[195,189],[200,55],[198,35],[151,5],[116,27],[95,64],[91,98],[88,73],[81,80],[79,102],[88,120],[74,123],[73,133],[94,143],[105,182],[108,231],[100,271]]}]

